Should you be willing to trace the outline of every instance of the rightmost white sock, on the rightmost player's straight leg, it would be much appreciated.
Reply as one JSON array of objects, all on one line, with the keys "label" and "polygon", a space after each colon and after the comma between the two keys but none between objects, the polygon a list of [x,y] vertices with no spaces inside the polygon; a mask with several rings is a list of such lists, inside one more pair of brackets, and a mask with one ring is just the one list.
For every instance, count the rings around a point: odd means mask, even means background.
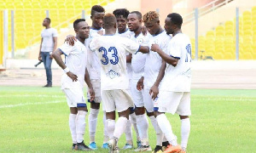
[{"label": "rightmost white sock, on the rightmost player's straight leg", "polygon": [[181,120],[181,146],[186,150],[190,133],[190,120],[189,118]]}]

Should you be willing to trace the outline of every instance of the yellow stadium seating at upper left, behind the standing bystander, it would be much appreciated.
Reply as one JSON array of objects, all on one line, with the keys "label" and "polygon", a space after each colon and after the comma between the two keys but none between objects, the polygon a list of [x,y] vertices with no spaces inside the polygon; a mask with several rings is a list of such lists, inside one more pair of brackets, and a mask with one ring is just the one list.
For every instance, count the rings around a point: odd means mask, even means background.
[{"label": "yellow stadium seating at upper left, behind the standing bystander", "polygon": [[80,17],[83,9],[86,14],[90,14],[90,8],[93,5],[101,4],[105,6],[113,2],[113,0],[2,1],[0,3],[0,10],[9,10],[9,51],[11,50],[10,10],[15,10],[15,49],[20,49],[41,40],[40,33],[44,29],[42,22],[46,17],[46,10],[49,10],[49,18],[52,20],[51,26],[60,32],[61,28],[70,26],[74,19]]}]

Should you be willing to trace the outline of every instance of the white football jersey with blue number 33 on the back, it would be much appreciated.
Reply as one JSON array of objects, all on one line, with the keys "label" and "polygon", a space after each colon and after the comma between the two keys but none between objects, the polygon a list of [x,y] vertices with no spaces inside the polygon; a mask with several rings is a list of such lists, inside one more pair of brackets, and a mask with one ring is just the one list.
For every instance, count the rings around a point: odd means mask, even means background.
[{"label": "white football jersey with blue number 33 on the back", "polygon": [[140,45],[126,37],[104,35],[90,42],[90,49],[96,51],[101,62],[102,90],[128,89],[126,52],[135,54]]}]

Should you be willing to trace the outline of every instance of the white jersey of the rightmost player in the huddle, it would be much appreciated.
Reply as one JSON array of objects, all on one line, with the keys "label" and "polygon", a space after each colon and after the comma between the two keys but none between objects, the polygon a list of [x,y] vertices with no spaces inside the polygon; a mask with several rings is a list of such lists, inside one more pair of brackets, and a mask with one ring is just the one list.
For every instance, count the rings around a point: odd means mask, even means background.
[{"label": "white jersey of the rightmost player in the huddle", "polygon": [[187,35],[178,33],[168,44],[167,54],[177,58],[177,65],[166,65],[160,89],[173,92],[190,92],[191,42]]}]

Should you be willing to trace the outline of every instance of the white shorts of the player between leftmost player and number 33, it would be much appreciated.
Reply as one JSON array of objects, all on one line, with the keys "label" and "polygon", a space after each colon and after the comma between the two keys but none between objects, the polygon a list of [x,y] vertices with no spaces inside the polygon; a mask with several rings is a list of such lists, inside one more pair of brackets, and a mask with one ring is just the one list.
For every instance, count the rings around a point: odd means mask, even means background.
[{"label": "white shorts of the player between leftmost player and number 33", "polygon": [[[92,80],[90,80],[90,82],[92,84],[92,88],[94,89],[94,93],[95,93],[94,102],[101,103],[101,101],[102,101],[101,80],[100,79],[92,79]],[[88,102],[90,102],[90,93],[89,93],[89,91],[87,92],[87,99],[88,99]]]}]

